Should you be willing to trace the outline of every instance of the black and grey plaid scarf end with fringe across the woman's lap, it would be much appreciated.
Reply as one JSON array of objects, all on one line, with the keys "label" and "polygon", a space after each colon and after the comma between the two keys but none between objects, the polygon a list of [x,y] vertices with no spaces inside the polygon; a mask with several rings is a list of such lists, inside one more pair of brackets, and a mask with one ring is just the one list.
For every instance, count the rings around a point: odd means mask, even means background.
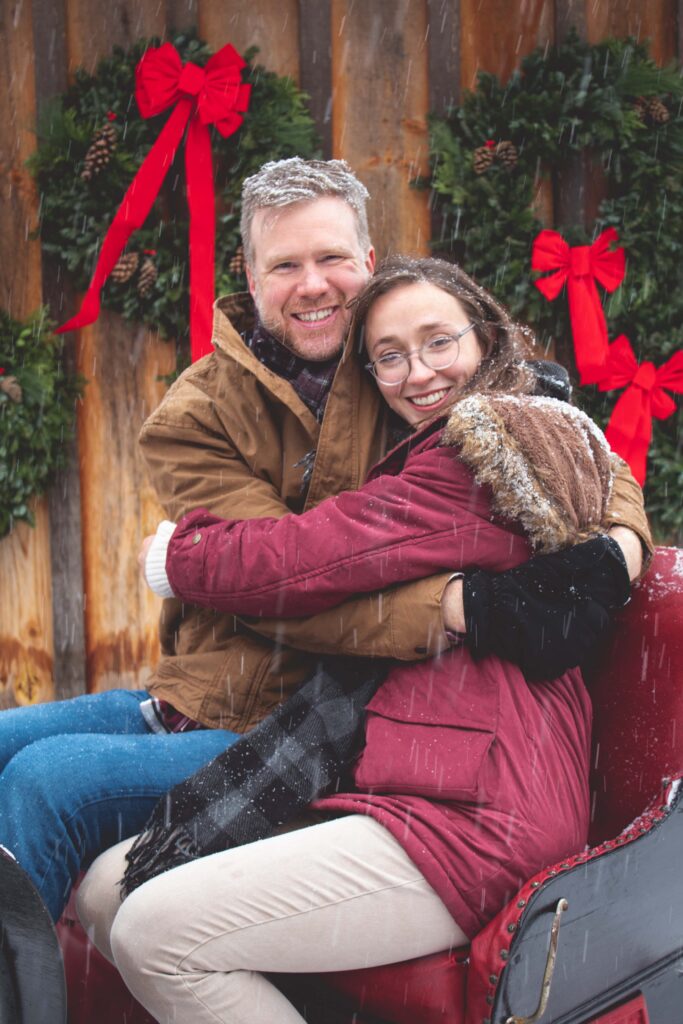
[{"label": "black and grey plaid scarf end with fringe across the woman's lap", "polygon": [[335,790],[385,675],[377,659],[319,660],[271,715],[159,801],[126,857],[122,897],[197,857],[266,839]]}]

